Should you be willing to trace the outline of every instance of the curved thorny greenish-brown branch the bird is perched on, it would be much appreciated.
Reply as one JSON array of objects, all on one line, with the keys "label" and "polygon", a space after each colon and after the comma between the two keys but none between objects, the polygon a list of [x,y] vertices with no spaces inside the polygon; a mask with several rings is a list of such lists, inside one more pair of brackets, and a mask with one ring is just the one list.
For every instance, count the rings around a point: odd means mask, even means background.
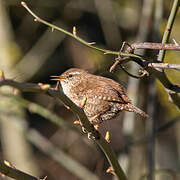
[{"label": "curved thorny greenish-brown branch the bird is perched on", "polygon": [[94,126],[88,121],[84,111],[76,106],[63,92],[50,88],[48,84],[33,84],[33,83],[19,83],[13,80],[6,80],[4,77],[0,78],[0,86],[11,86],[24,92],[36,92],[55,97],[63,102],[66,106],[78,115],[83,127],[88,133],[90,133],[94,141],[100,146],[102,151],[105,153],[109,163],[111,164],[114,173],[117,175],[118,179],[126,180],[126,176],[120,167],[116,155],[105,139],[100,135],[100,133],[94,128]]}]

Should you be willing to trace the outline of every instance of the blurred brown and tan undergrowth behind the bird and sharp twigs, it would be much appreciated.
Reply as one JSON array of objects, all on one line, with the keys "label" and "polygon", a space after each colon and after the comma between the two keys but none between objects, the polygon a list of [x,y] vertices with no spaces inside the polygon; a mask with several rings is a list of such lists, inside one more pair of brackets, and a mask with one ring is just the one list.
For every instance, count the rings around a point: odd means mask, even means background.
[{"label": "blurred brown and tan undergrowth behind the bird and sharp twigs", "polygon": [[[75,26],[77,36],[84,40],[119,51],[123,41],[161,42],[173,1],[31,0],[26,3],[42,19],[70,32]],[[180,12],[171,43],[173,39],[180,43]],[[156,58],[158,52],[137,53]],[[128,179],[138,180],[151,171],[150,162],[155,162],[156,169],[171,170],[179,179],[179,111],[164,87],[151,76],[133,79],[118,67],[113,74],[109,73],[115,58],[35,22],[20,1],[0,0],[0,69],[5,77],[55,85],[50,81],[51,75],[78,67],[123,82],[133,103],[148,112],[155,123],[152,125],[133,113],[121,113],[116,120],[104,123],[101,133],[110,131],[110,145]],[[167,52],[165,62],[179,64],[179,52]],[[139,70],[134,63],[126,68],[133,74]],[[178,70],[165,72],[174,84],[180,83]],[[48,180],[114,179],[105,173],[109,164],[101,150],[73,125],[77,117],[61,102],[37,93],[18,93],[17,98],[9,94],[13,94],[12,88],[0,89],[1,159],[34,176],[48,176]],[[48,116],[41,107],[52,114]],[[63,123],[49,121],[56,118],[61,118]],[[169,124],[158,131],[166,123]],[[146,138],[150,131],[153,131],[153,141]],[[167,172],[155,174],[156,179],[171,178]]]}]

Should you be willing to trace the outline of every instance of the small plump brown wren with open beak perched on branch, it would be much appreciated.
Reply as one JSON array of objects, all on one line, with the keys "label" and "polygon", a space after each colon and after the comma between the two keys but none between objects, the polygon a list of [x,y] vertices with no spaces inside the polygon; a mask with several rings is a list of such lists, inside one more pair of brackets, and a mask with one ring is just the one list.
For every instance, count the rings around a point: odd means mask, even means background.
[{"label": "small plump brown wren with open beak perched on branch", "polygon": [[124,87],[112,79],[77,68],[71,68],[60,76],[52,77],[52,80],[60,81],[64,94],[77,106],[82,107],[83,103],[84,112],[93,125],[110,120],[121,111],[135,112],[148,117],[131,103]]}]

